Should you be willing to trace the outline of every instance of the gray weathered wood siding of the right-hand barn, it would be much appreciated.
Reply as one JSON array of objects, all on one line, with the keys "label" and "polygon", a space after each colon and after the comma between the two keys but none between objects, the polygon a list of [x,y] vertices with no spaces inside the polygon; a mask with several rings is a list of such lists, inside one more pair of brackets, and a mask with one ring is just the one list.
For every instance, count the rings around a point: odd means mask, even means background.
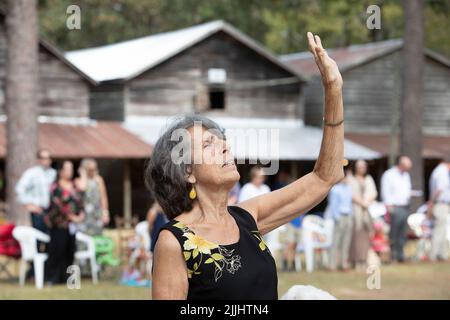
[{"label": "gray weathered wood siding of the right-hand barn", "polygon": [[[394,107],[401,103],[401,51],[343,72],[345,129],[348,132],[389,133]],[[426,134],[450,134],[450,68],[430,58],[424,70]],[[323,89],[318,78],[305,87],[305,122],[320,126]],[[400,112],[401,121],[401,112]]]}]

